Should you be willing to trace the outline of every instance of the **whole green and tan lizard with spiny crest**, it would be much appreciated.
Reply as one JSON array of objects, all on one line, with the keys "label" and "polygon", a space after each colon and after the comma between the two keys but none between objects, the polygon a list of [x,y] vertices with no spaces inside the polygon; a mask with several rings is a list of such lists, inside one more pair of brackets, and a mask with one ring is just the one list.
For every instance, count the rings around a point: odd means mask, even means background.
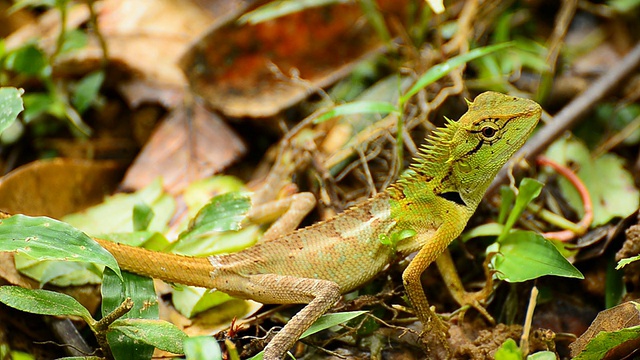
[{"label": "whole green and tan lizard with spiny crest", "polygon": [[236,253],[201,258],[97,241],[133,273],[264,304],[306,304],[267,344],[267,360],[283,358],[342,294],[417,252],[402,274],[403,285],[422,334],[434,332],[446,348],[448,328],[430,308],[420,276],[463,231],[542,113],[535,101],[496,92],[467,103],[458,121],[447,119],[427,137],[394,184],[329,220]]}]

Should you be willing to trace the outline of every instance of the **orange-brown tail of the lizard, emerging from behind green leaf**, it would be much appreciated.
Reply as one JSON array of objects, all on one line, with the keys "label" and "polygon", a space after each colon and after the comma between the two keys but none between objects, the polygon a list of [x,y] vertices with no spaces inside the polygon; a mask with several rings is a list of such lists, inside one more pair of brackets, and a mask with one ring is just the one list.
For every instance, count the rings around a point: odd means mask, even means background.
[{"label": "orange-brown tail of the lizard, emerging from behind green leaf", "polygon": [[207,258],[151,251],[107,240],[94,239],[107,249],[123,270],[184,285],[213,288],[213,266]]}]

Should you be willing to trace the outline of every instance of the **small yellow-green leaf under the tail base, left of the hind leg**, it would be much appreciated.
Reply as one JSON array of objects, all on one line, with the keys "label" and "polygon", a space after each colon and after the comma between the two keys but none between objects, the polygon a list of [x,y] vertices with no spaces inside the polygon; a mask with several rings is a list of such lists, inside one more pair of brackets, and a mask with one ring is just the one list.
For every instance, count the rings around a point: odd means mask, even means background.
[{"label": "small yellow-green leaf under the tail base, left of the hind leg", "polygon": [[230,295],[220,291],[194,286],[174,286],[177,290],[173,292],[173,306],[188,318],[233,299]]}]

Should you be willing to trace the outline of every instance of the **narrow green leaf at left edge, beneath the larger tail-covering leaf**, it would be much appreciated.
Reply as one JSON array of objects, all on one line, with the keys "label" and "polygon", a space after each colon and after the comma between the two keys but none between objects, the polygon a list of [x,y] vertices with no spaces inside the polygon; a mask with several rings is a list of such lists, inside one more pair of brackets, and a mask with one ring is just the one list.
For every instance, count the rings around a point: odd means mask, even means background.
[{"label": "narrow green leaf at left edge, beneath the larger tail-covering leaf", "polygon": [[49,290],[30,290],[19,286],[0,286],[0,302],[32,314],[79,316],[87,324],[95,320],[84,306],[69,295]]}]

